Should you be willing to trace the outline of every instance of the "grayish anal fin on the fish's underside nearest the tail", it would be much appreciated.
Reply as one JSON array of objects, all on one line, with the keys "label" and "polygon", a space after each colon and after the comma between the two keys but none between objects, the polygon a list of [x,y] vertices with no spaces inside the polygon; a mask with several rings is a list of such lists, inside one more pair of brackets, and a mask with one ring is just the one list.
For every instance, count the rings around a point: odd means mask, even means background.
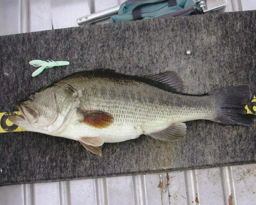
[{"label": "grayish anal fin on the fish's underside nearest the tail", "polygon": [[162,141],[177,141],[180,140],[186,134],[185,123],[173,123],[166,129],[149,134],[152,138]]}]

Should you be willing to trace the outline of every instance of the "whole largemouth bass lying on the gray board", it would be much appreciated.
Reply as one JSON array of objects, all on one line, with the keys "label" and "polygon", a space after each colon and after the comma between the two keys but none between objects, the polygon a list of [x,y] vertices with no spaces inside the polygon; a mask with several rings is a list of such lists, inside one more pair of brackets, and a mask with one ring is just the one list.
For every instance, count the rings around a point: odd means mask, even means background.
[{"label": "whole largemouth bass lying on the gray board", "polygon": [[145,134],[175,141],[186,133],[183,122],[210,120],[251,126],[246,114],[250,86],[243,84],[203,95],[183,94],[176,72],[129,76],[111,70],[75,73],[42,87],[21,100],[22,116],[10,120],[27,131],[79,141],[101,155],[103,143]]}]

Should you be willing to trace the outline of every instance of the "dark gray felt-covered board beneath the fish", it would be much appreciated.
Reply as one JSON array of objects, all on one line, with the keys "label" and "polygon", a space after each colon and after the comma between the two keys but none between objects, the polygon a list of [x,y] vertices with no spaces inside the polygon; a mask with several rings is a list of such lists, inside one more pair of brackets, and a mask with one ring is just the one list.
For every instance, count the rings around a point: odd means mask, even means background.
[{"label": "dark gray felt-covered board beneath the fish", "polygon": [[[0,111],[52,80],[82,70],[180,73],[185,92],[242,83],[256,90],[256,11],[141,20],[0,37]],[[186,55],[187,51],[191,55]],[[32,78],[30,60],[71,64]],[[255,128],[187,122],[184,139],[150,137],[104,144],[103,156],[78,142],[32,132],[0,134],[0,185],[253,163]]]}]

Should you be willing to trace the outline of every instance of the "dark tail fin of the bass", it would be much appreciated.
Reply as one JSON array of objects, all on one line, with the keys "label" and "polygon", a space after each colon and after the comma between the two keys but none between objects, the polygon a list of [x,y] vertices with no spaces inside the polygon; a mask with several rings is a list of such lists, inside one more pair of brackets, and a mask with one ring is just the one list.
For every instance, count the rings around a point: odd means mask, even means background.
[{"label": "dark tail fin of the bass", "polygon": [[219,102],[218,115],[212,121],[227,125],[252,126],[252,115],[248,115],[245,109],[251,99],[250,85],[226,87],[209,95],[214,95]]}]

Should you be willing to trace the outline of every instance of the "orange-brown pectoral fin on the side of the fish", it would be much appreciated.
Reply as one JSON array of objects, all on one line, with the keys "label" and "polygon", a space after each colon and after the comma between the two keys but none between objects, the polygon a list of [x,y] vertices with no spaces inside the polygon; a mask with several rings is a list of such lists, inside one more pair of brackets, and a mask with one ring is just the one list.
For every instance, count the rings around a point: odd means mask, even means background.
[{"label": "orange-brown pectoral fin on the side of the fish", "polygon": [[105,128],[114,122],[114,117],[109,112],[102,110],[82,110],[78,109],[83,115],[83,123],[96,128]]}]

